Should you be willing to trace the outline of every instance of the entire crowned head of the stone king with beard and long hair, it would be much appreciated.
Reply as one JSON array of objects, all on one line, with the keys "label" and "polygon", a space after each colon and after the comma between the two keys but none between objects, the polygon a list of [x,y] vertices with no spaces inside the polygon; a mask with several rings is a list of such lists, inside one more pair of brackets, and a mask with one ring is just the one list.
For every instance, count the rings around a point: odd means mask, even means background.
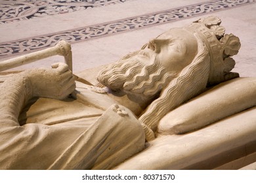
[{"label": "entire crowned head of the stone king with beard and long hair", "polygon": [[216,16],[191,25],[170,29],[142,47],[110,64],[98,81],[112,90],[125,90],[152,96],[160,93],[139,120],[146,139],[152,139],[157,124],[170,110],[205,90],[239,76],[230,73],[240,41],[230,34]]}]

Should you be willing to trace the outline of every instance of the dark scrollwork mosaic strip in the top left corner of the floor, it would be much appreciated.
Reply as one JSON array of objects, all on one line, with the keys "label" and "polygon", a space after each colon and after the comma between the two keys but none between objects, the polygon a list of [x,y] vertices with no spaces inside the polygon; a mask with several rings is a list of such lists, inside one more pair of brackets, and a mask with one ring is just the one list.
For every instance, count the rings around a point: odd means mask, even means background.
[{"label": "dark scrollwork mosaic strip in the top left corner of the floor", "polygon": [[0,0],[0,24],[116,5],[129,0]]}]

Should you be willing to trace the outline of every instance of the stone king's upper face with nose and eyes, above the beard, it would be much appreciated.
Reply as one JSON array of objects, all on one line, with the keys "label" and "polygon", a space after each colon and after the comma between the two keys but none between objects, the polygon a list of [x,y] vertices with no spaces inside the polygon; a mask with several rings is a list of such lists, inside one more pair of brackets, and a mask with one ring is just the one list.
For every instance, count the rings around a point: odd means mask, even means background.
[{"label": "stone king's upper face with nose and eyes, above the beard", "polygon": [[[198,42],[192,33],[184,29],[170,29],[148,43],[143,54],[150,52],[170,73],[180,73],[198,52]],[[148,54],[148,55],[150,55]]]}]

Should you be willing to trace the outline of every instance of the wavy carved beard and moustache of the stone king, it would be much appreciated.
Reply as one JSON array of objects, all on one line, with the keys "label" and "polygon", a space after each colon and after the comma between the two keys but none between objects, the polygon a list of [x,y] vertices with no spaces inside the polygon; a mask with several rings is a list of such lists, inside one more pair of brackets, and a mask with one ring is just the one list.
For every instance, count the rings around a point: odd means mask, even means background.
[{"label": "wavy carved beard and moustache of the stone king", "polygon": [[98,82],[112,90],[125,90],[153,96],[165,87],[175,73],[160,65],[154,53],[139,50],[128,54],[98,73]]}]

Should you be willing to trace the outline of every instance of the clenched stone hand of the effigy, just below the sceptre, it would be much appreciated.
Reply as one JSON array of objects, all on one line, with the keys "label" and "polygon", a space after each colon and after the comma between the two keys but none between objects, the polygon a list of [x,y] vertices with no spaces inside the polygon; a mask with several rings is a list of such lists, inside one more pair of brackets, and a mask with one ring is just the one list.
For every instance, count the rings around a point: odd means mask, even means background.
[{"label": "clenched stone hand of the effigy, just below the sceptre", "polygon": [[28,78],[33,97],[64,99],[75,90],[75,78],[64,63],[54,63],[52,69],[32,69]]}]

